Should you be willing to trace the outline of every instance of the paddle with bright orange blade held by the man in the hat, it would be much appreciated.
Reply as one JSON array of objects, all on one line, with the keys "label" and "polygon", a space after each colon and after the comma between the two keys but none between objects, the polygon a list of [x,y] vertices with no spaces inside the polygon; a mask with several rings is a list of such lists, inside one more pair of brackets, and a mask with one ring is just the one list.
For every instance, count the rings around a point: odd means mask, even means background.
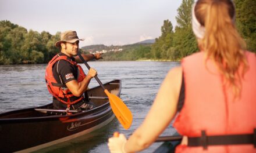
[{"label": "paddle with bright orange blade held by the man in the hat", "polygon": [[[90,65],[88,65],[88,63],[86,62],[86,60],[84,60],[81,54],[78,53],[77,55],[79,56],[81,61],[83,61],[83,63],[86,64],[88,70],[90,70]],[[118,121],[122,124],[123,128],[125,128],[126,130],[129,129],[131,126],[131,122],[133,122],[133,115],[131,114],[129,108],[125,105],[125,103],[123,103],[123,101],[118,96],[109,93],[109,91],[104,88],[104,85],[101,83],[97,76],[95,76],[94,78],[97,80],[101,88],[104,90],[106,96],[108,96],[112,111],[116,115],[116,118],[118,118]]]}]

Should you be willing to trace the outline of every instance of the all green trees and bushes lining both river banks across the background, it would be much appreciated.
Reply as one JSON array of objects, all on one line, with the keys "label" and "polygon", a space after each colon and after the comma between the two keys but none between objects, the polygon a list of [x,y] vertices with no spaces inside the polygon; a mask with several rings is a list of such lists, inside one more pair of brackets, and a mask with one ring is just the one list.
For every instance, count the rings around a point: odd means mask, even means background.
[{"label": "all green trees and bushes lining both river banks across the background", "polygon": [[[135,43],[120,46],[120,52],[108,52],[103,60],[180,60],[197,52],[197,43],[191,28],[191,7],[194,0],[183,0],[177,9],[177,25],[164,20],[161,36],[154,43]],[[247,49],[256,52],[256,1],[234,0],[236,5],[236,26],[247,43]],[[42,31],[27,31],[26,28],[8,20],[0,21],[0,64],[20,64],[23,61],[48,63],[59,52],[54,43],[61,32],[55,35]],[[102,45],[91,46],[93,49]],[[115,48],[116,46],[104,46]],[[80,49],[88,53],[86,46]]]}]

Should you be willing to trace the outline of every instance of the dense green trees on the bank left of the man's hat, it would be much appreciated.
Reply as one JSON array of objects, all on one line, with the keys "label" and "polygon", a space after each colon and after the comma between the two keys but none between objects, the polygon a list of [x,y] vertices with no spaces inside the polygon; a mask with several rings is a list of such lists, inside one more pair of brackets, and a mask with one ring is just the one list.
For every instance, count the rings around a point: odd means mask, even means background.
[{"label": "dense green trees on the bank left of the man's hat", "polygon": [[24,60],[47,63],[59,52],[54,45],[60,34],[27,31],[8,20],[0,21],[0,64],[20,64]]}]

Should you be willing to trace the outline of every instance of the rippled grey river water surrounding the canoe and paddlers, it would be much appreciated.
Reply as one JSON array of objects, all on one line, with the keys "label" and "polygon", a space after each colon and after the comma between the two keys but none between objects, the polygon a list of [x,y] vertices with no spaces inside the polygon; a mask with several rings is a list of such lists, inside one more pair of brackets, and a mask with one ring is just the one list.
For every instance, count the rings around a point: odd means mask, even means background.
[{"label": "rippled grey river water surrounding the canoe and paddlers", "polygon": [[[129,130],[122,128],[117,119],[93,133],[86,134],[65,143],[53,145],[36,152],[109,152],[108,138],[119,131],[129,137],[143,122],[154,101],[159,86],[170,68],[179,65],[175,62],[156,61],[97,61],[89,62],[98,71],[102,83],[113,79],[122,80],[120,98],[133,114],[133,124]],[[0,65],[0,112],[35,107],[51,103],[52,96],[45,85],[46,64],[39,65]],[[82,65],[87,73],[87,68]],[[98,86],[93,79],[90,88]],[[166,114],[168,115],[168,114]],[[162,135],[175,132],[172,126]],[[161,143],[155,143],[143,152],[153,152]]]}]

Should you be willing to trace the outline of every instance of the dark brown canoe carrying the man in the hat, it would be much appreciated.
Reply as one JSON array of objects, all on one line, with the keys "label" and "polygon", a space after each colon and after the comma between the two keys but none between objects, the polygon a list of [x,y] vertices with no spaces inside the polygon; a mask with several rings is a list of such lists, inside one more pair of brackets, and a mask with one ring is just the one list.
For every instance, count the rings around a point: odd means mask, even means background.
[{"label": "dark brown canoe carrying the man in the hat", "polygon": [[[105,83],[104,87],[120,96],[120,80]],[[97,106],[93,110],[66,113],[53,110],[51,103],[0,114],[1,152],[36,151],[93,132],[115,118],[101,86],[89,89],[88,96]]]}]

